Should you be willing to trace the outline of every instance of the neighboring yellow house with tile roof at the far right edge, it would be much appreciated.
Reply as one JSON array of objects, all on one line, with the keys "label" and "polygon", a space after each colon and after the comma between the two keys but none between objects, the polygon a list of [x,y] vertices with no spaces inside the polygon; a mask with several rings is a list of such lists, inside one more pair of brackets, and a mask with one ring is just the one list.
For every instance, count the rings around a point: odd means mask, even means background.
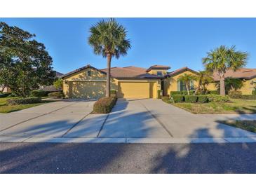
[{"label": "neighboring yellow house with tile roof at the far right edge", "polygon": [[[225,74],[225,78],[240,78],[243,80],[243,87],[239,90],[243,95],[251,95],[252,90],[255,90],[256,87],[256,69],[241,68],[236,71],[228,70]],[[213,73],[213,78],[215,83],[210,83],[208,85],[208,90],[217,90],[217,83],[220,81],[220,77],[217,76],[217,73]]]}]

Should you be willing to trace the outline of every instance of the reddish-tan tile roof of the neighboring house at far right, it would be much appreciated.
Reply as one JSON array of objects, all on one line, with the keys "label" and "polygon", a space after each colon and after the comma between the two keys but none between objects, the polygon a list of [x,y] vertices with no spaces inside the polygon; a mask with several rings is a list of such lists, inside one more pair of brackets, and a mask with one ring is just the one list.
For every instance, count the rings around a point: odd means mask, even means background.
[{"label": "reddish-tan tile roof of the neighboring house at far right", "polygon": [[[241,68],[236,71],[229,69],[225,74],[225,78],[227,77],[252,79],[256,77],[256,69]],[[220,77],[217,75],[217,72],[213,73],[213,78],[215,81],[220,81]]]}]

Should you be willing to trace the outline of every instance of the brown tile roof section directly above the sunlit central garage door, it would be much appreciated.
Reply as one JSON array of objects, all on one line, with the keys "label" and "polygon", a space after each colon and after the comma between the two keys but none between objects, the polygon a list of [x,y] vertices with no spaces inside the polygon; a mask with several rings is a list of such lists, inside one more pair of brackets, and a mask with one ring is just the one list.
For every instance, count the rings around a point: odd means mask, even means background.
[{"label": "brown tile roof section directly above the sunlit central garage door", "polygon": [[[100,69],[101,71],[107,72],[107,69]],[[142,67],[112,67],[111,76],[114,78],[158,78],[153,74],[148,74],[147,69]]]}]

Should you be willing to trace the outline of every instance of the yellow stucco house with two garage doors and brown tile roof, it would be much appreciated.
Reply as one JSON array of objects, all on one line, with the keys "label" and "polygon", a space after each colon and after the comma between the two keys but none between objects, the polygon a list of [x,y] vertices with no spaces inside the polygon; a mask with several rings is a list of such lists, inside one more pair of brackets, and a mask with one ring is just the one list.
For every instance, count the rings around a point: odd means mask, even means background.
[{"label": "yellow stucco house with two garage doors and brown tile roof", "polygon": [[[117,91],[119,98],[157,98],[158,90],[163,95],[170,95],[170,91],[185,90],[184,83],[177,81],[183,74],[197,74],[197,71],[182,67],[175,71],[168,71],[165,65],[152,65],[148,69],[142,67],[112,67],[111,89]],[[256,69],[255,69],[256,70]],[[106,69],[97,69],[89,64],[62,76],[63,92],[69,98],[99,98],[105,96]],[[245,79],[243,94],[251,94],[251,81],[255,77]],[[215,82],[216,83],[216,82]],[[216,90],[215,83],[208,86],[209,90]],[[190,89],[196,88],[197,82],[190,82]],[[249,88],[250,87],[250,88]]]}]

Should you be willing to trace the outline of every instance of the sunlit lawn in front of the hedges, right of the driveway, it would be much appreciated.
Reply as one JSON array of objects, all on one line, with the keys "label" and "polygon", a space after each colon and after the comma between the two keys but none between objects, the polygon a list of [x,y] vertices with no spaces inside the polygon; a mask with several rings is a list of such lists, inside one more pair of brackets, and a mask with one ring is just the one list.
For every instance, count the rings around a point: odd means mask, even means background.
[{"label": "sunlit lawn in front of the hedges, right of the driveway", "polygon": [[174,103],[193,114],[256,114],[256,100],[235,100],[231,102]]}]

